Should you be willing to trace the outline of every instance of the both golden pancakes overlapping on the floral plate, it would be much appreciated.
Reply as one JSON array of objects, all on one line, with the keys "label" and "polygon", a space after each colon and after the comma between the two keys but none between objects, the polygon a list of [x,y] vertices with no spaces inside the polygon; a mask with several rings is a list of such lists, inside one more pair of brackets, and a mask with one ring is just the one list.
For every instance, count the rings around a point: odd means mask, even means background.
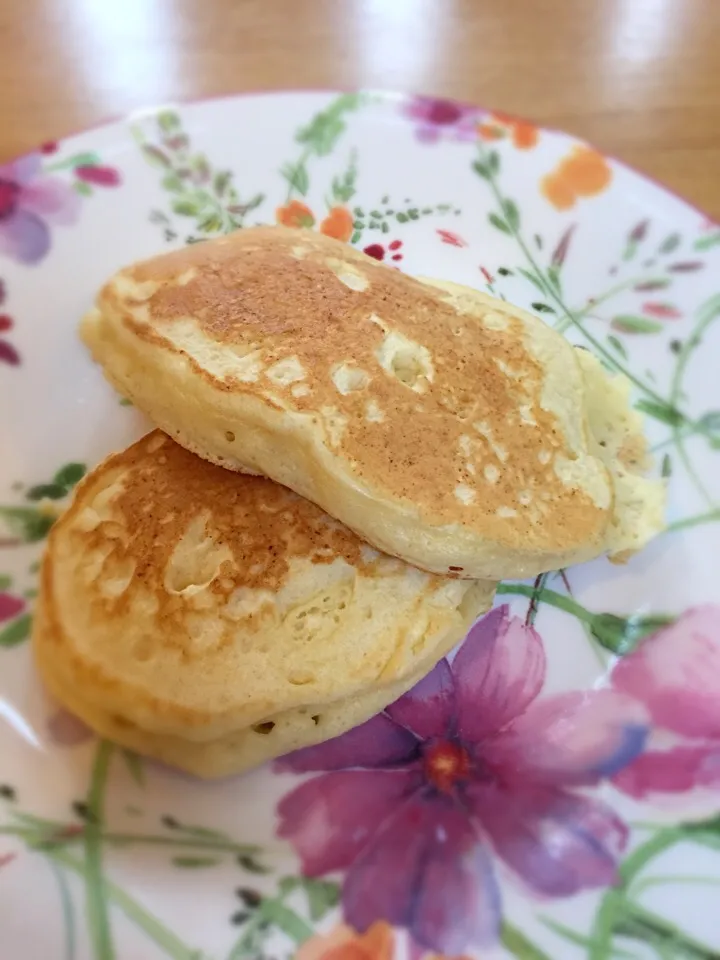
[{"label": "both golden pancakes overlapping on the floral plate", "polygon": [[372,716],[498,579],[662,525],[624,382],[537,318],[325,237],[135,265],[82,332],[165,432],[52,530],[37,662],[103,736],[200,776]]}]

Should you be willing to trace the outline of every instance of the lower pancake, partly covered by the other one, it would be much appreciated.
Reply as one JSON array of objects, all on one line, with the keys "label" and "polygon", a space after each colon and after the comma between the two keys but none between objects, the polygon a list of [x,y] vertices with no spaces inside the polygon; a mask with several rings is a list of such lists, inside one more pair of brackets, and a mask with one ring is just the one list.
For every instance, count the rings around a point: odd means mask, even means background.
[{"label": "lower pancake, partly covered by the other one", "polygon": [[381,554],[154,431],[52,528],[33,641],[50,690],[102,735],[224,775],[382,709],[493,591]]}]

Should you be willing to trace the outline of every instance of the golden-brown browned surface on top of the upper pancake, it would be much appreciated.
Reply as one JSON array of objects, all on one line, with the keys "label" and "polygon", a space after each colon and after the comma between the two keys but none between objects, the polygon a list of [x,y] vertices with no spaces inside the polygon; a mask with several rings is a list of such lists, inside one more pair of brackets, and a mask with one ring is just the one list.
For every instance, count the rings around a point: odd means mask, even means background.
[{"label": "golden-brown browned surface on top of the upper pancake", "polygon": [[[305,251],[298,259],[293,248],[300,242]],[[340,261],[362,273],[365,289],[338,278]],[[190,268],[192,279],[178,285]],[[145,302],[151,326],[133,319],[112,283],[100,305],[105,300],[141,337],[176,349],[165,336],[173,323],[191,318],[217,343],[260,350],[265,368],[296,357],[311,388],[302,396],[264,377],[241,383],[214,377],[194,361],[193,367],[223,391],[261,395],[268,404],[274,394],[299,413],[319,412],[328,446],[371,489],[411,502],[423,518],[480,529],[498,543],[522,538],[528,549],[564,549],[601,539],[609,510],[555,471],[556,455],[572,459],[574,453],[555,415],[540,406],[543,370],[511,307],[504,328],[484,326],[459,314],[441,291],[347,245],[278,228],[239,231],[126,273],[160,284]],[[374,318],[429,351],[432,381],[425,389],[415,391],[382,369],[377,354],[386,333]],[[332,380],[338,363],[368,373],[369,384],[339,392]],[[368,417],[369,400],[381,419]],[[335,408],[344,421],[339,437],[329,433],[323,407]],[[469,454],[463,437],[470,439]]]}]

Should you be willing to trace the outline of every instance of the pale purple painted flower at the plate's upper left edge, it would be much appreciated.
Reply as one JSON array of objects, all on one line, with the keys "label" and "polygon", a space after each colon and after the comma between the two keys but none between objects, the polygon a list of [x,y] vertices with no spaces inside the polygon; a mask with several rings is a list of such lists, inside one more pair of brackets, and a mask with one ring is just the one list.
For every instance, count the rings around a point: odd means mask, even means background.
[{"label": "pale purple painted flower at the plate's upper left edge", "polygon": [[50,226],[77,219],[80,198],[57,177],[42,173],[42,154],[0,166],[0,254],[39,263],[50,249]]}]

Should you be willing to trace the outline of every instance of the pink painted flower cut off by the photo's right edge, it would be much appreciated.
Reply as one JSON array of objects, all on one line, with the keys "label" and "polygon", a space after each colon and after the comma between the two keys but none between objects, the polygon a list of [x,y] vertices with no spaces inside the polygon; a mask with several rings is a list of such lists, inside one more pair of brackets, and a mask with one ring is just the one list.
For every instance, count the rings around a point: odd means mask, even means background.
[{"label": "pink painted flower cut off by the photo's right edge", "polygon": [[672,739],[619,771],[620,790],[642,798],[720,787],[720,607],[694,607],[648,637],[618,663],[612,685],[643,703]]}]

